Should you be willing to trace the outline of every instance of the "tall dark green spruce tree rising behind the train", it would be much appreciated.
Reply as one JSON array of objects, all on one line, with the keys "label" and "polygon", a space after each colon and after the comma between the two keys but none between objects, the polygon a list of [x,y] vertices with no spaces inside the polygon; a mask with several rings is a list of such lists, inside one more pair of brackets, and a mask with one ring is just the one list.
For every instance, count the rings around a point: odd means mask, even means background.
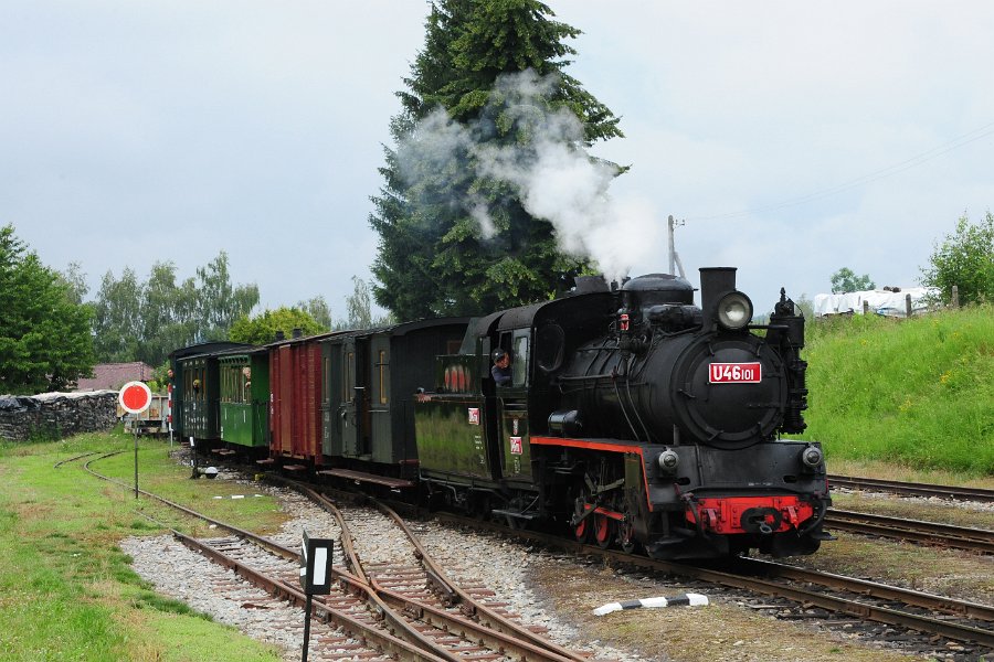
[{"label": "tall dark green spruce tree rising behind the train", "polygon": [[[526,211],[515,178],[498,174],[509,167],[500,150],[533,162],[550,127],[584,159],[593,141],[622,135],[564,73],[575,50],[563,40],[580,32],[553,15],[536,0],[433,2],[370,216],[380,235],[373,296],[399,319],[541,300],[588,268],[560,250],[548,220]],[[563,113],[579,131],[557,132]]]}]

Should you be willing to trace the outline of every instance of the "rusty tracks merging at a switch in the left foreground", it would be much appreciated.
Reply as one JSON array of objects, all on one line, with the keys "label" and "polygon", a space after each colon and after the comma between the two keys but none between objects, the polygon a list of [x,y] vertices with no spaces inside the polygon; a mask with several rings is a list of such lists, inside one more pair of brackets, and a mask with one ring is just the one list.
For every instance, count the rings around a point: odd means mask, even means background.
[{"label": "rusty tracks merging at a switch in the left foreground", "polygon": [[[101,479],[130,489],[123,481],[103,476],[91,467],[93,461],[108,456],[87,461],[84,468]],[[173,531],[176,540],[271,596],[297,607],[304,606],[306,596],[298,588],[299,554],[296,551],[150,492],[139,492],[226,532],[222,536],[194,538]],[[316,492],[314,498],[335,514],[337,509],[327,499]],[[340,512],[336,516],[341,527],[348,569],[332,567],[332,595],[316,597],[314,601],[310,659],[393,658],[431,662],[509,658],[580,662],[586,659],[541,638],[515,622],[509,615],[500,613],[499,605],[487,604],[493,592],[484,587],[467,590],[448,581],[395,514],[389,516],[412,541],[413,563],[364,562],[355,549],[346,517]],[[236,584],[229,588],[240,590]],[[299,628],[303,631],[303,613]]]}]

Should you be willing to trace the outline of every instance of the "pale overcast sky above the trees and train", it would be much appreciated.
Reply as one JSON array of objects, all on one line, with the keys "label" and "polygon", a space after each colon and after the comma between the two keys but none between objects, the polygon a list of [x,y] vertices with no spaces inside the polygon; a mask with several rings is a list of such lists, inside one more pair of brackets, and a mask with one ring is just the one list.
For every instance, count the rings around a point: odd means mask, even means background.
[{"label": "pale overcast sky above the trees and train", "polygon": [[[632,275],[739,267],[758,309],[840,267],[913,286],[994,209],[994,3],[548,0],[616,115],[593,153],[659,232]],[[0,3],[0,225],[46,265],[180,278],[226,250],[275,308],[336,318],[378,236],[394,93],[423,0]]]}]

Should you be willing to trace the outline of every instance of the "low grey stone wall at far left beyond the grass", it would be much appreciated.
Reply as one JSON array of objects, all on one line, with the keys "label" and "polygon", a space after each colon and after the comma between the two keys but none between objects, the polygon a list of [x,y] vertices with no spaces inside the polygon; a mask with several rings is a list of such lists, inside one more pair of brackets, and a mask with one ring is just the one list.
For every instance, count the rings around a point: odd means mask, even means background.
[{"label": "low grey stone wall at far left beyond the grass", "polygon": [[0,396],[0,438],[61,439],[106,430],[117,423],[117,392]]}]

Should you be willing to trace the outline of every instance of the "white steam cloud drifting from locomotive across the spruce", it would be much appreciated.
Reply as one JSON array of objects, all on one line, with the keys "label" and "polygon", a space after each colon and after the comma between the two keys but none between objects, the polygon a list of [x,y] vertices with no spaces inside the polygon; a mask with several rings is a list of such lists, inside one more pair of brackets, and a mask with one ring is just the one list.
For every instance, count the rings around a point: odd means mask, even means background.
[{"label": "white steam cloud drifting from locomotive across the spruce", "polygon": [[[480,177],[517,189],[532,216],[552,224],[559,248],[595,263],[607,280],[621,280],[633,265],[648,261],[658,247],[663,224],[644,201],[617,201],[607,193],[616,167],[592,159],[583,149],[583,126],[565,109],[547,111],[542,98],[556,79],[527,71],[498,78],[487,121],[463,127],[438,109],[420,122],[399,151],[402,173],[413,189],[475,167]],[[516,137],[496,146],[494,122]],[[479,138],[477,138],[479,137]],[[497,227],[478,195],[453,201],[479,225],[484,239]]]}]

